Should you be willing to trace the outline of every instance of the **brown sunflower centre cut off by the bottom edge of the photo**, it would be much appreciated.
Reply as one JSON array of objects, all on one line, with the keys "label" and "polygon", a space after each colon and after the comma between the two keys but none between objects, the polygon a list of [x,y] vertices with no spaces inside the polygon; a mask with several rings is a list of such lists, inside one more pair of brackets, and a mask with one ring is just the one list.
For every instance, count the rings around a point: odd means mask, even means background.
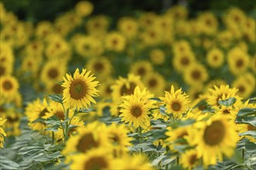
[{"label": "brown sunflower centre cut off by the bottom edge of the photo", "polygon": [[101,156],[94,156],[92,158],[89,158],[87,162],[85,162],[85,169],[90,170],[101,170],[101,169],[107,169],[108,168],[108,162],[106,161],[106,158],[103,158]]}]

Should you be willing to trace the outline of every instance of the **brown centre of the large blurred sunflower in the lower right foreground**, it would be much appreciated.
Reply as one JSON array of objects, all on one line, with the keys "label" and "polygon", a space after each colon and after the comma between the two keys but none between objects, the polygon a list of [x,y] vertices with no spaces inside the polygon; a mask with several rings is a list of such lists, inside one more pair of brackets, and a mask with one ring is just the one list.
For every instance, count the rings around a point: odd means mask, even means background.
[{"label": "brown centre of the large blurred sunflower in the lower right foreground", "polygon": [[213,123],[206,127],[203,134],[203,139],[206,145],[218,145],[225,136],[225,126],[221,121],[213,121]]}]

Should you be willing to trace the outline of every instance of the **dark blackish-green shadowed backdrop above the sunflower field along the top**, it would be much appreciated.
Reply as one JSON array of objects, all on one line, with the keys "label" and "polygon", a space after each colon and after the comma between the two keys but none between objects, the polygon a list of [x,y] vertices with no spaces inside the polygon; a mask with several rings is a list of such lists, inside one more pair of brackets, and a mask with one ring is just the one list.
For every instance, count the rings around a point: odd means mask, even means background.
[{"label": "dark blackish-green shadowed backdrop above the sunflower field along the top", "polygon": [[[53,21],[58,15],[74,8],[81,0],[1,0],[8,11],[14,12],[19,19],[33,23],[42,20]],[[95,9],[93,15],[105,14],[114,21],[123,15],[136,15],[140,11],[163,12],[172,5],[185,5],[190,17],[198,12],[211,9],[220,15],[230,6],[239,7],[255,18],[254,0],[91,0]]]}]

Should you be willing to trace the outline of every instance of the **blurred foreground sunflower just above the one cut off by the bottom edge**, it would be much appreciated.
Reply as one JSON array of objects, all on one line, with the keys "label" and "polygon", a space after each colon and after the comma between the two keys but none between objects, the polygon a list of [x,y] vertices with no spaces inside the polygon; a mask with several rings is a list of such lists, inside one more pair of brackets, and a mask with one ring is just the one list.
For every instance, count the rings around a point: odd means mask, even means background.
[{"label": "blurred foreground sunflower just above the one cut off by the bottom edge", "polygon": [[110,142],[107,137],[106,125],[97,121],[81,126],[78,134],[68,138],[66,147],[62,151],[64,155],[72,153],[86,153],[95,148],[109,148]]}]

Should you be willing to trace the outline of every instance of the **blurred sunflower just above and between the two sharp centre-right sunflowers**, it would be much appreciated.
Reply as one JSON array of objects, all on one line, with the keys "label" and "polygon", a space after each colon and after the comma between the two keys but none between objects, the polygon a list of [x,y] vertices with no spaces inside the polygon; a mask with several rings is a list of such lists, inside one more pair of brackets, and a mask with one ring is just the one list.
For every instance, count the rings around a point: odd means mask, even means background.
[{"label": "blurred sunflower just above and between the two sharp centre-right sunflowers", "polygon": [[161,95],[164,92],[165,80],[160,73],[150,73],[144,77],[144,83],[147,89],[156,95]]}]

